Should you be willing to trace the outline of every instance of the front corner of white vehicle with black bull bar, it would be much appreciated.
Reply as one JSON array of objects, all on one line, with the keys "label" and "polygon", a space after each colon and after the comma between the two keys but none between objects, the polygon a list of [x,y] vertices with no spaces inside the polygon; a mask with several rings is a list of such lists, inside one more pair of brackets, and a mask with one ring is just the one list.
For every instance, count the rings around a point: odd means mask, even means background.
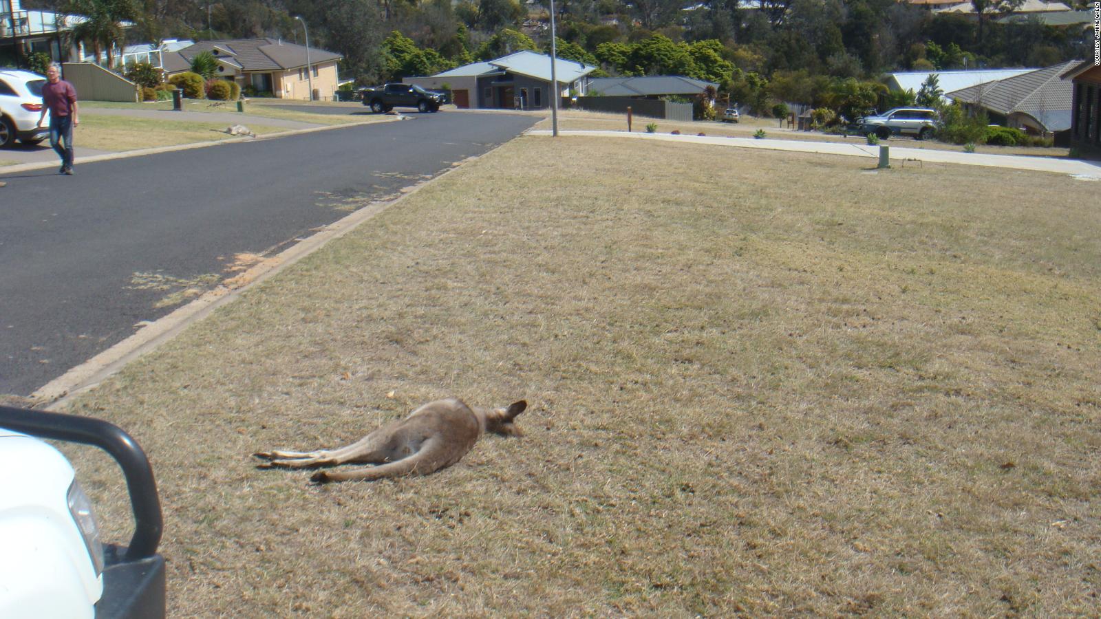
[{"label": "front corner of white vehicle with black bull bar", "polygon": [[[95,445],[122,468],[134,533],[103,544],[73,466],[37,437]],[[145,454],[105,421],[0,406],[0,617],[165,615],[161,503]]]}]

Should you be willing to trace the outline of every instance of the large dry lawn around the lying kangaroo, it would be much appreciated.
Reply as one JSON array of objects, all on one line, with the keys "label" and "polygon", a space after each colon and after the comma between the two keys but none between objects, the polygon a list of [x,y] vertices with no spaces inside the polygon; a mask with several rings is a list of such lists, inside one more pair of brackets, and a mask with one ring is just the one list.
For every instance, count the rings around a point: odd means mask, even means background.
[{"label": "large dry lawn around the lying kangaroo", "polygon": [[[152,459],[172,616],[1095,615],[1097,187],[866,166],[517,139],[72,410]],[[249,457],[448,394],[526,436],[375,484]]]}]

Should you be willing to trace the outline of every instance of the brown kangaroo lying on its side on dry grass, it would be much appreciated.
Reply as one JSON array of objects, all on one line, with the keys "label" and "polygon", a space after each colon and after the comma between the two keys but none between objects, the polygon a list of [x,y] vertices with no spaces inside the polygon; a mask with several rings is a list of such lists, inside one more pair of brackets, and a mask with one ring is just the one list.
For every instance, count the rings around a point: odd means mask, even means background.
[{"label": "brown kangaroo lying on its side on dry grass", "polygon": [[456,398],[428,402],[402,421],[384,425],[358,443],[333,450],[260,452],[260,468],[307,468],[342,464],[375,464],[350,470],[323,470],[309,479],[317,484],[366,479],[374,481],[402,475],[428,475],[459,461],[478,438],[488,432],[519,436],[513,420],[524,412],[521,400],[508,409],[467,406]]}]

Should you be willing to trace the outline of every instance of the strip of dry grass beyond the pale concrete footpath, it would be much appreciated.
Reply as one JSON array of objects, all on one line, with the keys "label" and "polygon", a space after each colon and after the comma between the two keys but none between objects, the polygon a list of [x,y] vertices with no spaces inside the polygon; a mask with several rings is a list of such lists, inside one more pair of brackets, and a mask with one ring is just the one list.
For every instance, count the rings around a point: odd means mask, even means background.
[{"label": "strip of dry grass beyond the pale concrete footpath", "polygon": [[[658,133],[669,133],[672,131],[680,131],[685,135],[695,135],[697,133],[706,133],[711,137],[728,137],[728,138],[752,138],[753,133],[757,129],[764,129],[768,138],[776,140],[795,140],[799,142],[839,142],[844,144],[862,144],[864,143],[863,137],[857,135],[836,135],[830,133],[822,133],[819,131],[797,131],[794,129],[787,129],[780,126],[780,121],[773,118],[756,118],[752,116],[743,116],[742,120],[738,123],[720,122],[720,121],[696,121],[696,122],[682,122],[664,119],[653,119],[644,117],[635,117],[632,122],[633,131],[645,131],[646,124],[654,122],[657,124]],[[558,121],[558,128],[563,130],[578,130],[578,131],[626,131],[626,115],[622,113],[606,113],[606,112],[590,112],[582,110],[565,110],[562,112]],[[537,129],[550,129],[550,121],[545,120],[537,126]],[[920,150],[940,150],[940,151],[955,151],[962,152],[963,146],[956,144],[948,144],[945,142],[938,142],[936,140],[915,140],[913,138],[892,138],[883,142],[884,144],[906,148],[906,149],[920,149]],[[1070,155],[1070,149],[1065,148],[1028,148],[1028,146],[991,146],[986,144],[980,144],[975,148],[977,153],[983,154],[1003,154],[1003,155],[1028,155],[1028,156],[1051,156],[1051,158],[1067,158]]]}]

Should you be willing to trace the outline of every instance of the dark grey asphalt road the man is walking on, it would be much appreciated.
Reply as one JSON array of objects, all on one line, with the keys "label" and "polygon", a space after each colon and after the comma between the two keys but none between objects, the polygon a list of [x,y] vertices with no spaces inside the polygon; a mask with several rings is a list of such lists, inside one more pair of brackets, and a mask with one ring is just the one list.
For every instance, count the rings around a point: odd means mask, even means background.
[{"label": "dark grey asphalt road the man is walking on", "polygon": [[[0,394],[29,395],[129,337],[235,254],[283,249],[530,128],[430,113],[254,142],[0,174]],[[207,276],[207,279],[204,279]]]}]

